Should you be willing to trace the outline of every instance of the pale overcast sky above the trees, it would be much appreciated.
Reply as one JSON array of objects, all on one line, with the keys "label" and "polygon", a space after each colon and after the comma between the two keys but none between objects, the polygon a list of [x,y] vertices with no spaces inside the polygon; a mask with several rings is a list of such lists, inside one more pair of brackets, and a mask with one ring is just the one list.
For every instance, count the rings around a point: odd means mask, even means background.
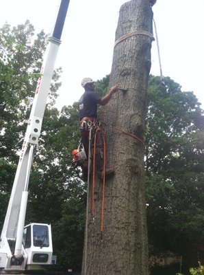
[{"label": "pale overcast sky above the trees", "polygon": [[[53,30],[61,0],[0,0],[0,26],[25,23],[36,32]],[[56,66],[62,66],[57,106],[73,104],[83,93],[81,79],[99,80],[110,74],[120,5],[126,0],[71,0]],[[162,72],[194,91],[202,103],[204,64],[204,0],[157,0],[153,6]],[[155,32],[154,32],[155,36]],[[160,76],[157,44],[152,44],[151,74]]]}]

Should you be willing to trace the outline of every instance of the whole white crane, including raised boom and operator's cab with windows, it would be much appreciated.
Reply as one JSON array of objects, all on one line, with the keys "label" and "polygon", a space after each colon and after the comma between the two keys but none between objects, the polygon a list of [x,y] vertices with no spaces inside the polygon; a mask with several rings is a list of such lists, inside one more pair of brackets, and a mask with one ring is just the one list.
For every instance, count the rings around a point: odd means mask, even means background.
[{"label": "whole white crane, including raised boom and operator's cab with windows", "polygon": [[49,38],[42,63],[42,77],[38,80],[27,122],[27,130],[0,238],[0,273],[3,274],[6,272],[13,274],[14,271],[21,273],[23,270],[35,270],[37,265],[51,264],[53,252],[51,225],[30,223],[24,227],[24,224],[31,163],[38,145],[68,4],[69,0],[62,0],[60,3],[53,34]]}]

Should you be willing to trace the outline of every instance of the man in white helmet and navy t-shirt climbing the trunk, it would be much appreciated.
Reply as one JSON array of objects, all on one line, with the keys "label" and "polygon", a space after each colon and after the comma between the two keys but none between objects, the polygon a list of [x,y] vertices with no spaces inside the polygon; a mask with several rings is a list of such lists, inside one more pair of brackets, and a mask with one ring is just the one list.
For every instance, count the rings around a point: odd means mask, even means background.
[{"label": "man in white helmet and navy t-shirt climbing the trunk", "polygon": [[[94,148],[94,131],[97,127],[100,130],[97,131],[96,136],[96,169],[99,177],[103,177],[103,139],[101,137],[102,128],[99,120],[97,120],[97,104],[105,105],[109,102],[112,95],[118,91],[118,85],[113,86],[110,91],[101,98],[95,93],[95,83],[92,78],[84,78],[81,81],[81,86],[84,87],[84,94],[79,100],[79,131],[81,134],[81,141],[84,145],[86,157],[88,158],[88,145],[89,145],[89,127],[93,126],[93,131],[90,140],[90,153],[91,159],[93,159],[93,148]],[[114,169],[105,169],[105,175],[112,175]],[[87,175],[83,175],[87,178]]]}]

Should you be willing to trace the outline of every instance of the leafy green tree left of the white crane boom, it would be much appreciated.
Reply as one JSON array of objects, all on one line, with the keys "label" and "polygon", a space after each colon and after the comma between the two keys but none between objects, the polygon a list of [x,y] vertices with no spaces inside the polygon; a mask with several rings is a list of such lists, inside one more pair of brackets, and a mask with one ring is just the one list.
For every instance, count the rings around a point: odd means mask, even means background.
[{"label": "leafy green tree left of the white crane boom", "polygon": [[[5,24],[0,29],[0,217],[7,208],[5,202],[10,196],[25,132],[23,122],[28,117],[45,48],[44,32],[31,43],[33,36],[34,27],[29,21],[12,29]],[[1,225],[2,222],[3,219]]]}]

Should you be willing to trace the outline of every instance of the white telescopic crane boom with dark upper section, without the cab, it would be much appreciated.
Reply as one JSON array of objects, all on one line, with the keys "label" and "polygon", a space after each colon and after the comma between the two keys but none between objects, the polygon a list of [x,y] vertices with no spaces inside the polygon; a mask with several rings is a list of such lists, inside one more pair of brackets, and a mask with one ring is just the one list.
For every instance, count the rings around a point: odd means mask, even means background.
[{"label": "white telescopic crane boom with dark upper section, without the cab", "polygon": [[[40,137],[44,109],[47,104],[55,59],[61,43],[60,39],[68,4],[69,0],[61,1],[55,28],[52,36],[49,38],[49,44],[44,54],[44,61],[41,68],[42,77],[38,80],[34,103],[31,108],[27,131],[25,133],[25,139],[23,141],[23,147],[8,204],[8,210],[1,232],[0,267],[5,269],[25,269],[27,262],[27,254],[23,248],[22,241],[27,207],[29,174],[34,151]],[[14,247],[14,249],[11,247]]]}]

